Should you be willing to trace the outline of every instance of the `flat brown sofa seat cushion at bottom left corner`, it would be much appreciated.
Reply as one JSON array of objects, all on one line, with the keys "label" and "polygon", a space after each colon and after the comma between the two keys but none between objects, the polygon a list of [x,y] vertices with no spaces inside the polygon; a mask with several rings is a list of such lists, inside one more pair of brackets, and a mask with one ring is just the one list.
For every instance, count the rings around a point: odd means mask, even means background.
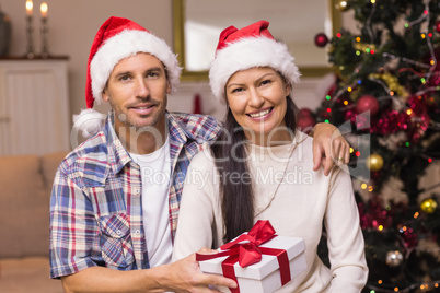
[{"label": "flat brown sofa seat cushion at bottom left corner", "polygon": [[62,293],[60,280],[49,279],[49,259],[28,257],[0,260],[0,292]]}]

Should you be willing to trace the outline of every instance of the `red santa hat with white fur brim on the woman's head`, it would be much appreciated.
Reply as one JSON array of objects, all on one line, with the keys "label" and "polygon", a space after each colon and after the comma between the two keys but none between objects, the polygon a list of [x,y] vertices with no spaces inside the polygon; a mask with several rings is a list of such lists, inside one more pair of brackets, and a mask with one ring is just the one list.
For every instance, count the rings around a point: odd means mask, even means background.
[{"label": "red santa hat with white fur brim on the woman's head", "polygon": [[298,67],[288,47],[274,39],[269,23],[259,21],[238,30],[230,26],[220,34],[216,58],[209,70],[213,95],[224,102],[224,86],[236,71],[254,67],[270,67],[283,75],[292,86],[300,80]]}]

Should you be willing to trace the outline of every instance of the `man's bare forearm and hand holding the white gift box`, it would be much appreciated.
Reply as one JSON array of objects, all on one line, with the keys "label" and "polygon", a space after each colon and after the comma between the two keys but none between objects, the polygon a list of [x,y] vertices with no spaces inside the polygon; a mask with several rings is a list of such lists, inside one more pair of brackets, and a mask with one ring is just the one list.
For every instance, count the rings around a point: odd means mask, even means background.
[{"label": "man's bare forearm and hand holding the white gift box", "polygon": [[[199,253],[217,253],[208,248]],[[204,274],[196,261],[196,254],[164,266],[144,270],[119,271],[91,267],[61,278],[67,293],[84,292],[220,292],[216,285],[236,288],[223,276]]]}]

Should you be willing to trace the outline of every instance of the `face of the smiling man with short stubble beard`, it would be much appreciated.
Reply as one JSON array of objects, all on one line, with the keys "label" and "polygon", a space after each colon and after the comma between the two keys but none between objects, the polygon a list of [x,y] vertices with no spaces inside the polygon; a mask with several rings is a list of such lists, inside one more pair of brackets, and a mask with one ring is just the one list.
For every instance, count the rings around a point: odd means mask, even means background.
[{"label": "face of the smiling man with short stubble beard", "polygon": [[154,56],[138,52],[120,60],[103,92],[115,114],[116,133],[121,127],[154,127],[162,132],[170,92],[165,69]]}]

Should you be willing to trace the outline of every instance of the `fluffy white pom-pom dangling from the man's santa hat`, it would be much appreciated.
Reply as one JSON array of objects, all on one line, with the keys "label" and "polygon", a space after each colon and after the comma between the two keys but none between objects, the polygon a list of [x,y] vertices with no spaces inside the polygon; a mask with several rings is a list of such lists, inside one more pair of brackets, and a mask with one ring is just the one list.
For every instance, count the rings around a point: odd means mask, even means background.
[{"label": "fluffy white pom-pom dangling from the man's santa hat", "polygon": [[73,115],[73,129],[81,130],[84,138],[96,134],[104,126],[105,115],[94,109],[82,109]]}]

